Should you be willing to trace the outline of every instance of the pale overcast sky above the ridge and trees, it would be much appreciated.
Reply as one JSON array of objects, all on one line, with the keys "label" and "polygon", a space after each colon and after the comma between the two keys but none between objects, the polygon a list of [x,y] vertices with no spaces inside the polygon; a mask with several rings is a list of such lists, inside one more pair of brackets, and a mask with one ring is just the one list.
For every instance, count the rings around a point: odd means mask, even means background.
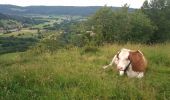
[{"label": "pale overcast sky above the ridge and trees", "polygon": [[46,6],[116,6],[130,4],[131,8],[140,8],[145,0],[0,0],[0,4],[18,6],[46,5]]}]

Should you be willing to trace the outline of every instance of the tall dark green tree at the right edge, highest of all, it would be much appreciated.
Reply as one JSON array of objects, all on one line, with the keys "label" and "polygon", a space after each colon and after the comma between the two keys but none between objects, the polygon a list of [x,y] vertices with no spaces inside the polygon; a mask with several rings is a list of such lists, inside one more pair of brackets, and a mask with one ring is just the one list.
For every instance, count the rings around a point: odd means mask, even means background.
[{"label": "tall dark green tree at the right edge, highest of all", "polygon": [[158,28],[151,42],[164,42],[170,39],[170,1],[146,0],[141,9]]}]

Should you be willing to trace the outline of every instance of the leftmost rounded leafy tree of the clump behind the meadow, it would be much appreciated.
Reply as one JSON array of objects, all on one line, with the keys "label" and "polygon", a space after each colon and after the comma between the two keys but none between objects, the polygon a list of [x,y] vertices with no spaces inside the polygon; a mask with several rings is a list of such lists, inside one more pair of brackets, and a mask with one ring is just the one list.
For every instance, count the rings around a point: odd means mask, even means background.
[{"label": "leftmost rounded leafy tree of the clump behind the meadow", "polygon": [[104,6],[99,9],[89,20],[94,32],[97,33],[98,43],[111,40],[108,38],[112,33],[113,11],[111,7]]}]

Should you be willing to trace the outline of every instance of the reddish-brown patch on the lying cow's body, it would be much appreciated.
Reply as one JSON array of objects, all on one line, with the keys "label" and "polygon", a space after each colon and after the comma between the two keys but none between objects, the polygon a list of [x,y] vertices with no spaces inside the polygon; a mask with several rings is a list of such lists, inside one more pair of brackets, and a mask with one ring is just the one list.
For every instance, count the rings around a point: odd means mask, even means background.
[{"label": "reddish-brown patch on the lying cow's body", "polygon": [[146,70],[147,62],[140,51],[129,52],[129,60],[133,71],[144,72]]}]

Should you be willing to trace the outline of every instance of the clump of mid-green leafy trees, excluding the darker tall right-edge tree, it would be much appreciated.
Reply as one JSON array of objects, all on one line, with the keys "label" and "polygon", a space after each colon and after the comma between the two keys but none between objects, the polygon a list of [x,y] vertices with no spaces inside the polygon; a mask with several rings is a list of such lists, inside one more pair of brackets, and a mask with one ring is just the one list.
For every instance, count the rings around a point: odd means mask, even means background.
[{"label": "clump of mid-green leafy trees, excluding the darker tall right-edge tree", "polygon": [[140,10],[129,12],[128,9],[129,6],[125,4],[116,12],[106,6],[98,10],[88,20],[97,33],[93,41],[98,44],[128,41],[149,43],[156,27]]}]

